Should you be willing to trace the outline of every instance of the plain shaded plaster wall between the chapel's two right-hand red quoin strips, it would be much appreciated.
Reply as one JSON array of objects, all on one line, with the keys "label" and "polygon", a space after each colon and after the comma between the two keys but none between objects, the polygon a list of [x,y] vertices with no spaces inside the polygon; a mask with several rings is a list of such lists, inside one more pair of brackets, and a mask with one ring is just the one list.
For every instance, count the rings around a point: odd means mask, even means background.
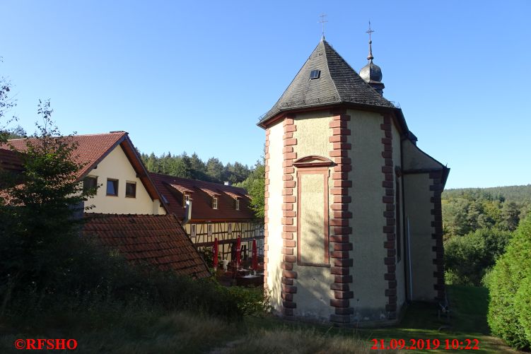
[{"label": "plain shaded plaster wall between the chapel's two right-hand red quoin strips", "polygon": [[380,127],[383,117],[358,110],[349,110],[348,114],[351,116],[349,143],[352,144],[349,211],[353,214],[351,258],[354,259],[351,306],[354,307],[354,321],[373,321],[387,318],[387,281],[384,279],[387,250],[383,247],[387,239],[383,233],[385,204],[382,201],[382,166],[385,163],[382,138],[385,134]]}]

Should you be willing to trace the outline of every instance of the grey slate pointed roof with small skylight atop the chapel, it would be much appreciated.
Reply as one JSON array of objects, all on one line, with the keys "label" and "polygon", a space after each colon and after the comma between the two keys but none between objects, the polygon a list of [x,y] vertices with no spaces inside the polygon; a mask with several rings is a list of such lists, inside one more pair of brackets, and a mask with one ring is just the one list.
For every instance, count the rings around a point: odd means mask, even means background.
[{"label": "grey slate pointed roof with small skylight atop the chapel", "polygon": [[[321,71],[320,78],[310,79],[310,72],[313,70]],[[326,40],[321,40],[284,94],[264,114],[259,124],[279,112],[344,102],[395,108],[392,102],[363,81]]]}]

